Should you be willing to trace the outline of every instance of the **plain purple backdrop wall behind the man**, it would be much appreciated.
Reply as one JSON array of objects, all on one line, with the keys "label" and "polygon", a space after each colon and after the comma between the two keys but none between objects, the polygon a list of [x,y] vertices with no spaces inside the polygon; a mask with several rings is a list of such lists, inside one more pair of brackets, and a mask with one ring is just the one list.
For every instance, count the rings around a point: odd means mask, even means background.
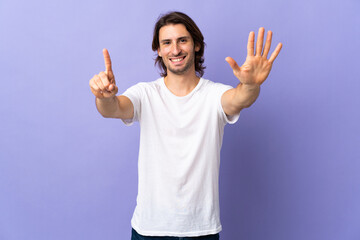
[{"label": "plain purple backdrop wall behind the man", "polygon": [[102,118],[88,82],[109,49],[120,92],[158,78],[160,13],[202,30],[205,78],[236,86],[248,33],[274,32],[261,95],[228,125],[221,239],[360,239],[360,2],[0,1],[0,239],[130,239],[139,125]]}]

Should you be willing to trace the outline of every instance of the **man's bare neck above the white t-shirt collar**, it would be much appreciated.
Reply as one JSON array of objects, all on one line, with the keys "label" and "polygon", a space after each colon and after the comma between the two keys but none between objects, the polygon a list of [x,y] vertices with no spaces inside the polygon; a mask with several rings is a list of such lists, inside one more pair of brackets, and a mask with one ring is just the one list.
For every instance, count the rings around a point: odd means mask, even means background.
[{"label": "man's bare neck above the white t-shirt collar", "polygon": [[195,71],[181,75],[168,71],[167,76],[164,78],[166,87],[179,97],[189,94],[196,87],[199,80],[200,78],[196,76]]}]

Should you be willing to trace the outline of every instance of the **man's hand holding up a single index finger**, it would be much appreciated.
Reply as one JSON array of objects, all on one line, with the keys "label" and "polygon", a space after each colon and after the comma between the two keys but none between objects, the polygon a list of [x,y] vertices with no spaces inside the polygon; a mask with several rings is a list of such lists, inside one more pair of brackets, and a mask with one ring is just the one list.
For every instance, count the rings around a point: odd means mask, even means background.
[{"label": "man's hand holding up a single index finger", "polygon": [[107,49],[103,49],[104,60],[105,60],[105,72],[95,74],[90,79],[89,85],[91,92],[97,98],[112,98],[118,92],[118,87],[115,83],[114,73],[111,68],[111,59]]}]

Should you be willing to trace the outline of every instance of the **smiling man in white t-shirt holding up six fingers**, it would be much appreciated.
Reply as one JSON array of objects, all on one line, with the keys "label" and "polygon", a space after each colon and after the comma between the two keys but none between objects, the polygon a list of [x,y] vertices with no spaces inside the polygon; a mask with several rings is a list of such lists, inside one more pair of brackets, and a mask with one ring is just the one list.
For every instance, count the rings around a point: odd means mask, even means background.
[{"label": "smiling man in white t-shirt holding up six fingers", "polygon": [[[140,123],[139,185],[131,220],[132,239],[219,239],[220,148],[224,126],[235,123],[257,99],[260,85],[280,52],[264,28],[250,32],[248,54],[239,67],[226,61],[240,83],[236,88],[202,78],[204,38],[191,18],[180,12],[161,16],[152,48],[163,70],[153,82],[118,88],[106,49],[105,72],[90,80],[96,106],[104,117]],[[263,50],[263,52],[262,52]],[[255,51],[255,53],[254,53]]]}]

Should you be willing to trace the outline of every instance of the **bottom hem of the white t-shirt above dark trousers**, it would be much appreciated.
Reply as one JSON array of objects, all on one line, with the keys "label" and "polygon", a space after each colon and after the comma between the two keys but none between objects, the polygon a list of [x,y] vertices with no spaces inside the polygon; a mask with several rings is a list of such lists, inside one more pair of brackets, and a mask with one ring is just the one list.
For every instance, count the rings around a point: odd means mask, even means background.
[{"label": "bottom hem of the white t-shirt above dark trousers", "polygon": [[205,235],[217,234],[221,232],[222,226],[220,225],[216,229],[203,230],[203,231],[194,231],[194,232],[168,232],[168,231],[142,231],[133,223],[131,226],[135,229],[137,233],[143,236],[157,236],[157,237],[200,237]]}]

